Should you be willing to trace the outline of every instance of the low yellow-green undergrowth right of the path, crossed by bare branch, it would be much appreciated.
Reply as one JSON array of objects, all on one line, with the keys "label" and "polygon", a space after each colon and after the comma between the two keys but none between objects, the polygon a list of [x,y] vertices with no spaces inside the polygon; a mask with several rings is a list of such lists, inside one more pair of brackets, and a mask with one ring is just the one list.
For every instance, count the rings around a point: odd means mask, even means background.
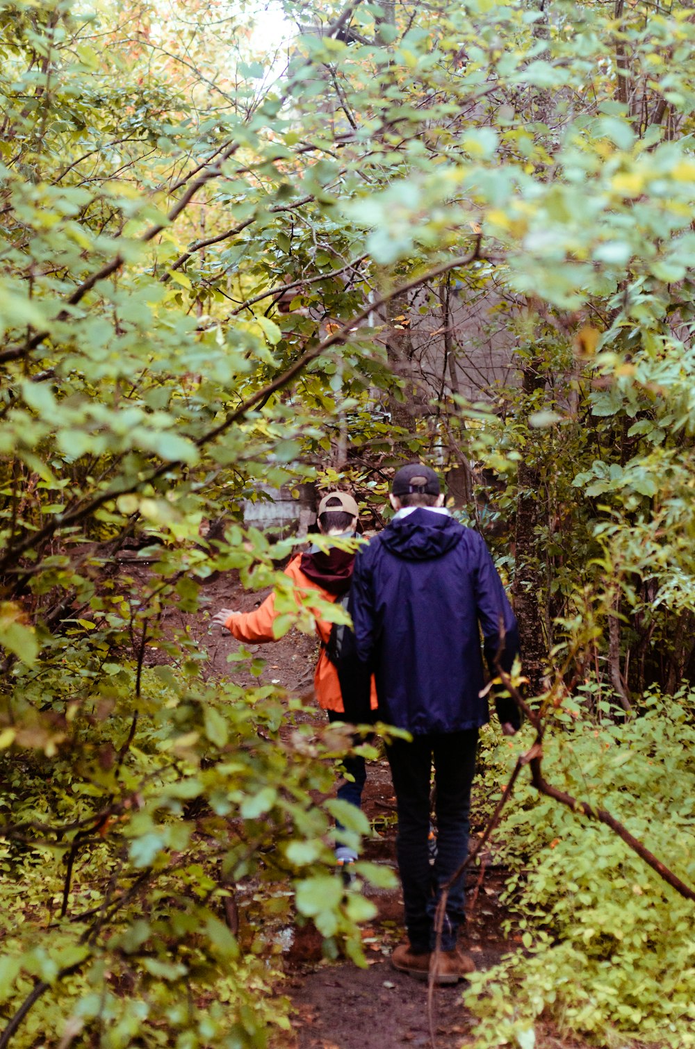
[{"label": "low yellow-green undergrowth right of the path, crossed by bare branch", "polygon": [[[593,724],[580,710],[568,705],[546,736],[547,778],[607,809],[692,884],[695,692],[652,690],[624,725]],[[695,1045],[692,902],[608,828],[528,780],[500,838],[525,950],[471,980],[477,1045],[532,1045],[540,1019],[601,1046]]]}]

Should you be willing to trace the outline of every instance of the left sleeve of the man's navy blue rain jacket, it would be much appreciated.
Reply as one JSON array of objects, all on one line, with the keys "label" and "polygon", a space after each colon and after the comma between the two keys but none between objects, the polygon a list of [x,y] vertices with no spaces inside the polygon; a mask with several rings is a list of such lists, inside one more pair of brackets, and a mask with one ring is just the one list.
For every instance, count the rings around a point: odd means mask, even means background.
[{"label": "left sleeve of the man's navy blue rain jacket", "polygon": [[375,718],[371,705],[375,622],[370,576],[361,551],[355,560],[348,611],[353,629],[345,630],[337,668],[340,692],[345,720],[368,725]]}]

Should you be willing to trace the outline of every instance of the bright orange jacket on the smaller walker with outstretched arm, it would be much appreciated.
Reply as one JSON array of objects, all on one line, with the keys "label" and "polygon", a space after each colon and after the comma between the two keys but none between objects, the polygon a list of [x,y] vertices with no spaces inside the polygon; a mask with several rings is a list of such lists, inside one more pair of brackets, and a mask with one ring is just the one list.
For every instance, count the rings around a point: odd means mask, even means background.
[{"label": "bright orange jacket on the smaller walker with outstretched arm", "polygon": [[[301,560],[301,554],[293,557],[285,570],[285,575],[290,577],[297,590],[316,591],[324,601],[335,601],[336,594],[330,594],[304,575],[300,566]],[[275,594],[273,593],[268,595],[255,612],[246,612],[230,616],[225,626],[237,641],[246,641],[248,644],[260,644],[266,641],[276,640],[273,636],[273,622],[277,616],[278,613],[275,611]],[[340,694],[338,671],[325,655],[325,649],[323,648],[331,635],[332,625],[332,623],[328,623],[324,619],[316,620],[316,634],[322,644],[314,673],[314,690],[319,707],[323,710],[335,710],[337,713],[343,713],[344,707],[342,705],[342,695]],[[374,679],[372,679],[371,703],[372,709],[376,710],[377,692]]]}]

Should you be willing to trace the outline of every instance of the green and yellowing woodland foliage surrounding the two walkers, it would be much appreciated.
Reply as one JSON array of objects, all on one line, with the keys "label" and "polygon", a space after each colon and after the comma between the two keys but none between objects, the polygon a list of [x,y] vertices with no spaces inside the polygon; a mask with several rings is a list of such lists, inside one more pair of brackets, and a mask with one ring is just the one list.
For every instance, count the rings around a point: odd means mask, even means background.
[{"label": "green and yellowing woodland foliage surrounding the two walkers", "polygon": [[528,679],[477,1044],[695,1045],[693,5],[17,0],[0,53],[0,1049],[273,1042],[278,916],[360,962],[335,734],[173,613],[311,633],[244,500],[379,524],[418,456]]}]

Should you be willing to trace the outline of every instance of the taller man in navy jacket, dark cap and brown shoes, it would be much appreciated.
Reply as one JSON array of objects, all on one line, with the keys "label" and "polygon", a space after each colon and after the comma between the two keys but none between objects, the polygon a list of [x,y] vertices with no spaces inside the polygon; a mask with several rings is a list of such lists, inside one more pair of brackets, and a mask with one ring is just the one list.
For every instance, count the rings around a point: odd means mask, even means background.
[{"label": "taller man in navy jacket, dark cap and brown shoes", "polygon": [[[517,621],[485,541],[450,517],[443,501],[429,467],[415,463],[396,473],[391,495],[396,515],[358,553],[350,600],[356,655],[363,671],[374,671],[379,719],[413,736],[386,747],[409,939],[396,947],[392,962],[423,979],[435,947],[438,895],[467,855],[478,730],[489,720],[487,699],[481,695],[479,627],[491,670],[498,660],[510,669],[519,647]],[[512,734],[520,724],[514,704],[500,698],[497,706],[503,731]],[[361,720],[350,699],[345,709]],[[433,762],[434,886],[427,848]],[[475,969],[457,948],[465,920],[463,881],[461,876],[448,895],[438,983],[456,983]]]}]

